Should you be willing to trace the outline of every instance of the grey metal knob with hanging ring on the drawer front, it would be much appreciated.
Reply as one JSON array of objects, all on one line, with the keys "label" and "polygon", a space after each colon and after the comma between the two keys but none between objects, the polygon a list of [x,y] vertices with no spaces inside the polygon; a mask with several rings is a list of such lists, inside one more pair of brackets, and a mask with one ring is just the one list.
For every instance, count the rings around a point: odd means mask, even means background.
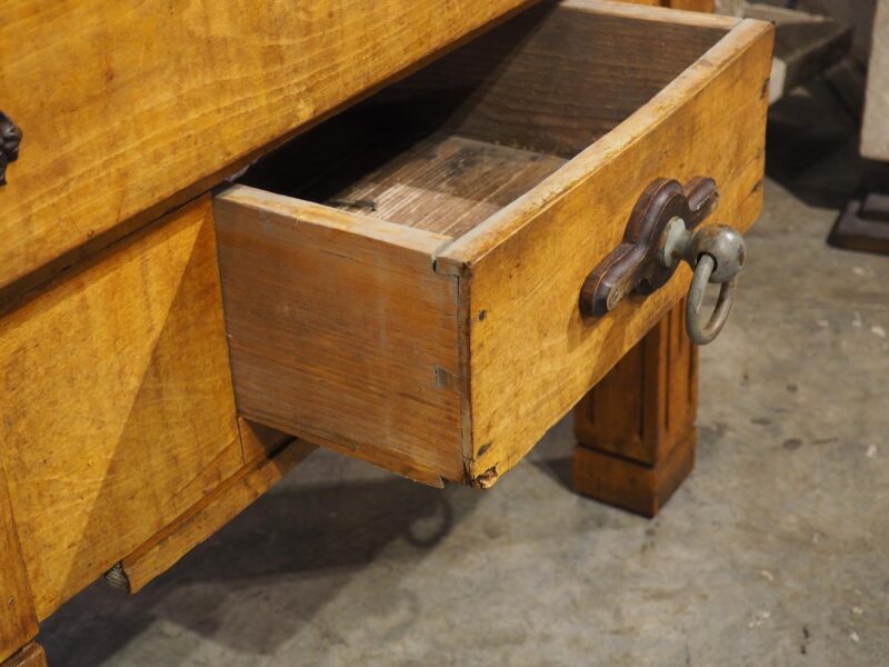
[{"label": "grey metal knob with hanging ring on the drawer front", "polygon": [[[672,269],[677,262],[685,260],[695,270],[688,290],[686,330],[697,345],[707,345],[719,336],[731,312],[738,273],[746,256],[743,237],[726,225],[691,231],[681,218],[673,218],[667,223],[662,239],[658,259],[666,268]],[[721,287],[716,308],[705,325],[701,309],[710,282]]]}]

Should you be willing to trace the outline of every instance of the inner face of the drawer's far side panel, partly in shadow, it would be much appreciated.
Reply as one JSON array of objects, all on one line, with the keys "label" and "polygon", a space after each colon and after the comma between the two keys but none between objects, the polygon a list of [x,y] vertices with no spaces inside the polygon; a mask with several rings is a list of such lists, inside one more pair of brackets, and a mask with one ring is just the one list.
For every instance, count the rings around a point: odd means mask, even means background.
[{"label": "inner face of the drawer's far side panel, partly in shadow", "polygon": [[737,22],[703,18],[616,3],[546,2],[369,104],[408,125],[572,158]]}]

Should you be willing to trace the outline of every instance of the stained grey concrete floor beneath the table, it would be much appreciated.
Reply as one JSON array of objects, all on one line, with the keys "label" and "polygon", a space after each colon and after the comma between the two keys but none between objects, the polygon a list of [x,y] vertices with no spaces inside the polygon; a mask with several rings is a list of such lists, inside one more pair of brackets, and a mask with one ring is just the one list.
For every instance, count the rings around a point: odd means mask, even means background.
[{"label": "stained grey concrete floor beneath the table", "polygon": [[139,596],[68,604],[50,663],[889,664],[889,258],[825,245],[862,178],[825,91],[772,128],[697,469],[660,517],[570,491],[568,420],[489,492],[319,452]]}]

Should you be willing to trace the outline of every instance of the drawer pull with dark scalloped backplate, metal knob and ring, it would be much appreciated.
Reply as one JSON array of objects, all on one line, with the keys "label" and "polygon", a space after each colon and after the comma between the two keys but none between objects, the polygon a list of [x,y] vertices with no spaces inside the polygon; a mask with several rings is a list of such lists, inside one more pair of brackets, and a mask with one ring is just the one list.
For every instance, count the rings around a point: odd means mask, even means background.
[{"label": "drawer pull with dark scalloped backplate, metal knob and ring", "polygon": [[[636,203],[620,246],[583,282],[581,313],[601,317],[631,292],[653,293],[685,260],[695,269],[686,328],[696,344],[712,341],[731,310],[746,252],[743,237],[731,227],[699,228],[718,199],[719,191],[710,178],[695,178],[685,188],[672,179],[653,181]],[[703,293],[710,282],[721,288],[712,316],[702,323]]]}]

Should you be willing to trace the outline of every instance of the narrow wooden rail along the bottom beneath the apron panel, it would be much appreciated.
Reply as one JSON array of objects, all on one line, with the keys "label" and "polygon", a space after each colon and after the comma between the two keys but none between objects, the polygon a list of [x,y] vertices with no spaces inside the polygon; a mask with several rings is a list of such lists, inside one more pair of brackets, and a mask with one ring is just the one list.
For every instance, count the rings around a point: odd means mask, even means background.
[{"label": "narrow wooden rail along the bottom beneath the apron panel", "polygon": [[176,565],[191,549],[222,528],[314,450],[291,439],[270,457],[259,457],[121,561],[129,593]]}]

